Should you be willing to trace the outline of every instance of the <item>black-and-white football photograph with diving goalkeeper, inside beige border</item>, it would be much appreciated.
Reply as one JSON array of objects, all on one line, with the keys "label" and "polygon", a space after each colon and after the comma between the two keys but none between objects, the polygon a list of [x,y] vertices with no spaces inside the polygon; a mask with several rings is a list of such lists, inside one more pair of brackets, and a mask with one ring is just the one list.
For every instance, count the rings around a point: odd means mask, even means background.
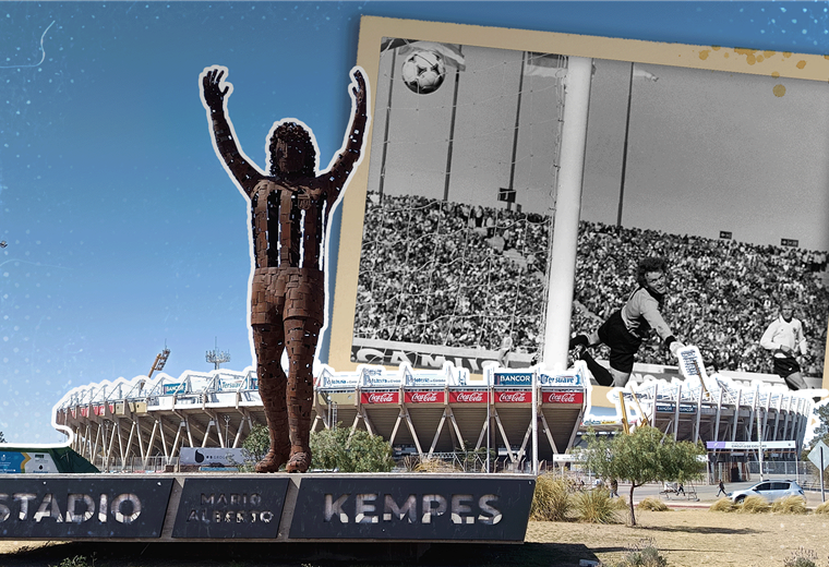
[{"label": "black-and-white football photograph with diving goalkeeper, inside beige border", "polygon": [[[379,48],[351,362],[541,362],[567,55]],[[694,345],[820,387],[829,85],[752,73],[592,60],[567,362],[594,384],[670,378]]]}]

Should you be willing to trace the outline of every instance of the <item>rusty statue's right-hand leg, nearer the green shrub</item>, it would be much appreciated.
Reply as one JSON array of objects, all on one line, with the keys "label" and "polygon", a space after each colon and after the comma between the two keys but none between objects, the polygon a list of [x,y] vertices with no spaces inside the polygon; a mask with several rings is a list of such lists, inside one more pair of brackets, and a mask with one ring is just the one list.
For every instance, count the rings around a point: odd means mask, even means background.
[{"label": "rusty statue's right-hand leg, nearer the green shrub", "polygon": [[285,322],[289,364],[288,426],[291,433],[291,457],[285,467],[288,472],[305,472],[311,466],[313,363],[321,326],[314,318],[291,318]]}]

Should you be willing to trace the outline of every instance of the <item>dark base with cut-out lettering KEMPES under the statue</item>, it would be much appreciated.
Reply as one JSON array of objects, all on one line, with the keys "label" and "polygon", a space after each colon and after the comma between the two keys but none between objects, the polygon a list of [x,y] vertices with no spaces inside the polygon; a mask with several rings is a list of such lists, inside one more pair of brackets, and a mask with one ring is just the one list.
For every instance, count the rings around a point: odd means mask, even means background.
[{"label": "dark base with cut-out lettering KEMPES under the statue", "polygon": [[516,474],[7,474],[0,540],[520,543],[534,484]]}]

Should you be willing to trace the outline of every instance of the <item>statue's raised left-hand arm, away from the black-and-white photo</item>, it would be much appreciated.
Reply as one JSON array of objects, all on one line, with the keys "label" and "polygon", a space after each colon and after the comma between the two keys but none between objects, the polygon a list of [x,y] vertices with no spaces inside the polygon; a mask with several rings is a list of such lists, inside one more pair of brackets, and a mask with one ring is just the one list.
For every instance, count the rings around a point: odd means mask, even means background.
[{"label": "statue's raised left-hand arm, away from the black-and-white photo", "polygon": [[209,111],[217,153],[236,181],[250,195],[256,182],[264,176],[242,155],[227,119],[225,99],[232,93],[233,86],[224,81],[226,72],[227,69],[217,65],[208,67],[202,72],[202,101]]}]

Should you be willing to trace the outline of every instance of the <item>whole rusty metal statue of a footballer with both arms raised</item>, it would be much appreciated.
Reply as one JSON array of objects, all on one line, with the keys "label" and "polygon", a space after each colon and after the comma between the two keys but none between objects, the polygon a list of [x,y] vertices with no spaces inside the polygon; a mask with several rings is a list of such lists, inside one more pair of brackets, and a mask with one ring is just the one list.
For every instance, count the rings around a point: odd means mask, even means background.
[{"label": "whole rusty metal statue of a footballer with both arms raised", "polygon": [[[259,389],[267,418],[271,449],[257,472],[305,472],[313,361],[325,317],[325,246],[331,216],[363,149],[369,120],[363,73],[351,71],[353,116],[343,149],[317,173],[313,133],[299,121],[274,124],[268,137],[269,174],[239,147],[227,116],[232,86],[227,69],[201,74],[202,100],[213,126],[214,147],[251,206],[253,279],[251,327]],[[288,373],[281,366],[287,351]]]}]

